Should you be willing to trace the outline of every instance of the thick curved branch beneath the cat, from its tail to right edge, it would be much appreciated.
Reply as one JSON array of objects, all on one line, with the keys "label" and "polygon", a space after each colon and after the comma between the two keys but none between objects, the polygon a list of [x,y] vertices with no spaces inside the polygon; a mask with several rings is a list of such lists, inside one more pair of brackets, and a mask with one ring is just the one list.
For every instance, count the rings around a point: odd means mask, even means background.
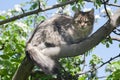
[{"label": "thick curved branch beneath the cat, from its tail to right edge", "polygon": [[111,21],[106,22],[100,29],[98,29],[91,37],[80,42],[79,44],[64,45],[61,47],[45,48],[42,53],[47,56],[62,58],[74,57],[82,55],[86,51],[98,45],[104,38],[106,38],[112,30],[120,25],[120,9],[111,16]]}]

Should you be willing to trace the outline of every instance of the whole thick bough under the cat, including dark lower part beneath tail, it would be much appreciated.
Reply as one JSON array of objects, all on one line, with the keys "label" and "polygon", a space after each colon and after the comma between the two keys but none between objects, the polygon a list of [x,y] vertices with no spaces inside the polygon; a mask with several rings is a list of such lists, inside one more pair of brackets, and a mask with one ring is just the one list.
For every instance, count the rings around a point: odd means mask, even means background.
[{"label": "whole thick bough under the cat, including dark lower part beneath tail", "polygon": [[[100,29],[98,29],[94,34],[92,34],[86,40],[78,44],[45,48],[40,52],[40,54],[43,54],[44,56],[50,58],[74,57],[77,55],[82,55],[86,51],[98,45],[103,39],[105,39],[112,32],[113,29],[115,29],[119,25],[120,25],[120,9],[117,10],[113,16],[111,16],[110,21],[107,21]],[[33,68],[33,64],[30,64],[30,60],[25,59],[18,68],[18,70],[16,71],[12,80],[26,80],[32,68]]]}]

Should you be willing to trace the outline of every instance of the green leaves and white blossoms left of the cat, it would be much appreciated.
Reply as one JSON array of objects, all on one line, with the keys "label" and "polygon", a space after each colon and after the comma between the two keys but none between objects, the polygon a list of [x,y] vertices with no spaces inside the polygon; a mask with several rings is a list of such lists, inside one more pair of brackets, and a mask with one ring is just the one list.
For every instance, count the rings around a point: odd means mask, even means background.
[{"label": "green leaves and white blossoms left of the cat", "polygon": [[[11,17],[10,14],[16,15],[18,11],[16,11],[16,8],[11,9],[1,15],[0,20]],[[35,15],[28,16],[27,18],[0,26],[0,49],[3,49],[0,52],[1,80],[12,79],[13,74],[25,57],[25,45],[34,25],[34,18]],[[37,18],[39,22],[45,19],[43,16]]]}]

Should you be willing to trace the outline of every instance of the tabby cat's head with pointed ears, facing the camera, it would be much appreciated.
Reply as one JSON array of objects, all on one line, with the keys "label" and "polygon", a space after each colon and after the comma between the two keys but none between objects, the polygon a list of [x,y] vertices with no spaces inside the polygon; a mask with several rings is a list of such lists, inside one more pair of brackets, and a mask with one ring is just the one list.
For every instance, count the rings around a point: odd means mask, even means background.
[{"label": "tabby cat's head with pointed ears, facing the camera", "polygon": [[74,15],[74,24],[79,29],[87,29],[94,24],[94,9],[87,12],[76,11]]}]

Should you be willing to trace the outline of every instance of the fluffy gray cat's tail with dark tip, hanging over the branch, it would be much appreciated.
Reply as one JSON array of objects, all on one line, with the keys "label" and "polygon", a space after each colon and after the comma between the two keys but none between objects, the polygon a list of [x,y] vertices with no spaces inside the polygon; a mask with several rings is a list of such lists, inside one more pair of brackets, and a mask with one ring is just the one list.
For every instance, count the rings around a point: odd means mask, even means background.
[{"label": "fluffy gray cat's tail with dark tip, hanging over the branch", "polygon": [[37,47],[28,43],[26,47],[27,56],[39,66],[46,74],[58,74],[59,65],[56,60],[42,54]]}]

